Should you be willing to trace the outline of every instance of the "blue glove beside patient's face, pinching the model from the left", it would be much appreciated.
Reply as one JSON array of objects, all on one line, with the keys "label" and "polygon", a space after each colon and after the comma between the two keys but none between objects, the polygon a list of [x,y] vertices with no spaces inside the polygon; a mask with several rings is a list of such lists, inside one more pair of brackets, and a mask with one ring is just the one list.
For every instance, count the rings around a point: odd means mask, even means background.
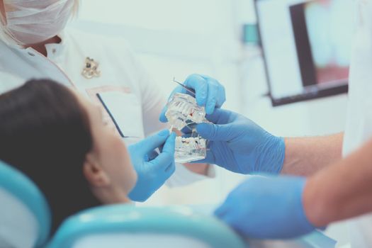
[{"label": "blue glove beside patient's face, pinching the model from the left", "polygon": [[[128,147],[130,159],[137,171],[137,183],[129,193],[132,201],[146,201],[174,173],[175,139],[175,133],[169,135],[169,130],[162,130]],[[154,152],[163,144],[160,154]]]}]

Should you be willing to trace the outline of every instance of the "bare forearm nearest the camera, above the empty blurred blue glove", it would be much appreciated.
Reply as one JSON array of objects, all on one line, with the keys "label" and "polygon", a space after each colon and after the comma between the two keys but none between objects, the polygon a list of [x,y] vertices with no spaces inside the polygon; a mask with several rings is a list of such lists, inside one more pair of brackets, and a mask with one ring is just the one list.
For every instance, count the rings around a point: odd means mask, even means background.
[{"label": "bare forearm nearest the camera, above the empty blurred blue glove", "polygon": [[316,226],[372,212],[372,140],[311,176],[305,184],[303,205]]}]

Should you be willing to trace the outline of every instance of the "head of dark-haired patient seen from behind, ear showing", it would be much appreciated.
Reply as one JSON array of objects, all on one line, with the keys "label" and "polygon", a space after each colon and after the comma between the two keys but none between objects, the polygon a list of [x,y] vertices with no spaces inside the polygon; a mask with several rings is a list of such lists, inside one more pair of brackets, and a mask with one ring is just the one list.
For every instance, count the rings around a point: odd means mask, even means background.
[{"label": "head of dark-haired patient seen from behind, ear showing", "polygon": [[50,80],[0,95],[0,159],[43,191],[54,228],[84,208],[128,201],[137,178],[101,108]]}]

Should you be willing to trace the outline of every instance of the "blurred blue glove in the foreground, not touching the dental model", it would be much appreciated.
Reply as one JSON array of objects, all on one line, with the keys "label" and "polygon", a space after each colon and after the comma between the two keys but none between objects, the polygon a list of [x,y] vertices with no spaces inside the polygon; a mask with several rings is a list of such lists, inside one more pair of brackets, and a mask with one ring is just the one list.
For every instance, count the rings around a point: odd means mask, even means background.
[{"label": "blurred blue glove in the foreground, not touching the dental model", "polygon": [[252,176],[237,186],[215,215],[245,237],[286,239],[315,230],[303,210],[301,177]]}]

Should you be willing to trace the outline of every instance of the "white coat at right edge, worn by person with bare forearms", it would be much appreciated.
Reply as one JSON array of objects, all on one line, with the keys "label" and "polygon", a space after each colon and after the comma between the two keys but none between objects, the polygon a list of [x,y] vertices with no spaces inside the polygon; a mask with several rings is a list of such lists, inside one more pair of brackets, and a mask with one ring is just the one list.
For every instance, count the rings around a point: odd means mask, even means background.
[{"label": "white coat at right edge, worn by person with bare forearms", "polygon": [[[372,138],[372,1],[360,0],[358,11],[359,27],[351,55],[344,156]],[[350,233],[351,247],[372,247],[372,215],[351,220]]]}]

